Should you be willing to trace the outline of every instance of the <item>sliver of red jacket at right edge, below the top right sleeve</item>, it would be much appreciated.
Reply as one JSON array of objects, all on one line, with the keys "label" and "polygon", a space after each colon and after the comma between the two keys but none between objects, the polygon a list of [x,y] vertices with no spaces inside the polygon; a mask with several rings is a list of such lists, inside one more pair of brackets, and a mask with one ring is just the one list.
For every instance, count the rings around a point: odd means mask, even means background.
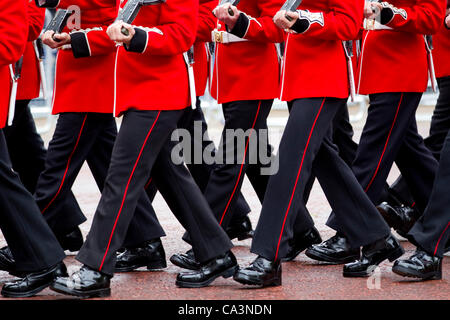
[{"label": "sliver of red jacket at right edge, below the top right sleeve", "polygon": [[442,25],[437,34],[433,36],[433,58],[436,77],[450,76],[450,30]]}]

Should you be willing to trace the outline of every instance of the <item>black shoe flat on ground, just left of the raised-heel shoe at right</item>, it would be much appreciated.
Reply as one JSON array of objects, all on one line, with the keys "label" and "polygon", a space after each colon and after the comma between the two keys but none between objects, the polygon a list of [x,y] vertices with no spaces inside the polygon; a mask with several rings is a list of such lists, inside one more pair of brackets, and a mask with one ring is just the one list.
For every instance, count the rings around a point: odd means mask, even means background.
[{"label": "black shoe flat on ground, just left of the raised-heel shoe at right", "polygon": [[359,259],[359,248],[352,249],[347,238],[337,233],[321,244],[308,248],[305,254],[317,261],[344,264]]}]

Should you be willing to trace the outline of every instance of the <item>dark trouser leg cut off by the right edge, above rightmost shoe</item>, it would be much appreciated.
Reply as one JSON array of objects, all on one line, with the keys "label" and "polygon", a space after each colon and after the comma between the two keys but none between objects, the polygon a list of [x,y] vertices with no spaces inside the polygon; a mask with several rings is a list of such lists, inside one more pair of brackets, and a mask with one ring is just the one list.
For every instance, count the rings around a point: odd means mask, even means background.
[{"label": "dark trouser leg cut off by the right edge, above rightmost shoe", "polygon": [[442,257],[450,240],[450,132],[441,152],[430,202],[409,231],[413,242],[430,254]]}]

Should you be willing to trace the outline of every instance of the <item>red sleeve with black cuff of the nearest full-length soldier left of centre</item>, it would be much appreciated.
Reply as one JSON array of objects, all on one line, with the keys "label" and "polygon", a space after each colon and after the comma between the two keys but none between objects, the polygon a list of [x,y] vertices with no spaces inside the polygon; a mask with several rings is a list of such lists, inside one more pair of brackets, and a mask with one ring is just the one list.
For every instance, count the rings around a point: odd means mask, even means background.
[{"label": "red sleeve with black cuff of the nearest full-length soldier left of centre", "polygon": [[126,50],[152,55],[175,55],[186,52],[194,44],[198,0],[167,0],[161,6],[159,24],[151,28],[135,27],[136,34],[130,45],[125,46]]}]

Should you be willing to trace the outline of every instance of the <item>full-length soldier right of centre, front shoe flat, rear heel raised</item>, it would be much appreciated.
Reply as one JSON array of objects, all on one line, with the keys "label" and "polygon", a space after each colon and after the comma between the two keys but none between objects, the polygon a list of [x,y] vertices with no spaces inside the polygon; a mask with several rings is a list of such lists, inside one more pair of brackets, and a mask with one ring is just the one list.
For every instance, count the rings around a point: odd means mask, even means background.
[{"label": "full-length soldier right of centre, front shoe flat, rear heel raised", "polygon": [[363,1],[305,0],[298,11],[281,10],[274,17],[280,29],[289,31],[281,98],[289,102],[290,115],[279,147],[280,169],[270,178],[255,229],[251,251],[258,256],[235,274],[238,282],[281,285],[280,260],[289,249],[294,222],[303,219],[307,225],[310,219],[297,208],[305,205],[301,195],[311,172],[352,247],[363,247],[364,263],[354,276],[368,275],[404,252],[331,141],[331,122],[349,92],[341,41],[357,36],[363,9]]}]

